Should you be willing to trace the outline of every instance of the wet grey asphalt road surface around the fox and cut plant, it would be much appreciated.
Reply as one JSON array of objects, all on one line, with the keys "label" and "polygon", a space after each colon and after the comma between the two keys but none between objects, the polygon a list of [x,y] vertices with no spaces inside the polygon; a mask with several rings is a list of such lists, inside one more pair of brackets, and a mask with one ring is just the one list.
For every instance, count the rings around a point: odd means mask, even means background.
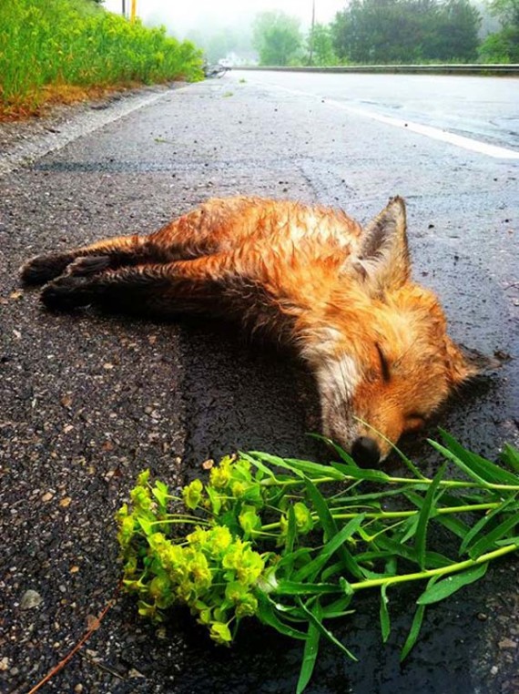
[{"label": "wet grey asphalt road surface around the fox and cut plant", "polygon": [[[0,141],[10,148],[5,158],[16,150],[10,168],[24,152],[55,148],[0,178],[0,675],[6,691],[25,693],[35,685],[114,596],[112,518],[141,469],[150,466],[178,485],[208,456],[237,447],[324,455],[304,436],[316,428],[315,393],[296,364],[222,325],[47,314],[37,291],[20,291],[17,281],[18,266],[36,252],[155,230],[212,195],[318,200],[367,220],[400,194],[408,202],[415,277],[442,297],[453,337],[511,357],[461,393],[439,423],[491,457],[504,441],[519,443],[519,160],[367,116],[355,101],[364,98],[355,89],[367,77],[330,77],[342,80],[342,91],[339,82],[332,90],[324,82],[316,87],[319,76],[236,73],[156,94],[148,106],[126,97],[129,107],[120,111],[126,115],[112,122],[120,102],[66,111],[43,128],[0,128]],[[402,77],[378,77],[384,92],[377,100],[370,90],[368,110],[387,115],[397,91],[392,79]],[[417,97],[422,106],[414,104],[413,122],[437,129],[444,122],[434,105],[447,104],[438,80],[454,98],[476,84],[463,77],[411,79],[412,92],[420,85],[431,95]],[[463,101],[463,123],[483,110],[485,122],[493,112],[495,121],[503,120],[509,99],[489,95],[515,84],[478,80],[473,95],[480,97]],[[132,104],[140,107],[131,111]],[[104,116],[97,120],[99,110]],[[50,137],[48,128],[59,132]],[[478,139],[475,129],[462,130]],[[496,127],[482,138],[517,151],[505,131]],[[25,134],[15,146],[14,132]],[[434,434],[435,424],[426,434]],[[405,446],[427,471],[437,465],[423,437]],[[308,691],[518,691],[518,566],[508,559],[431,609],[402,668],[409,596],[394,598],[385,647],[377,604],[365,600],[340,634],[360,662],[324,649]],[[36,606],[27,605],[27,590],[36,591]],[[131,601],[118,599],[45,691],[288,693],[299,657],[299,648],[262,629],[246,628],[236,648],[222,651],[183,620],[149,628]]]}]

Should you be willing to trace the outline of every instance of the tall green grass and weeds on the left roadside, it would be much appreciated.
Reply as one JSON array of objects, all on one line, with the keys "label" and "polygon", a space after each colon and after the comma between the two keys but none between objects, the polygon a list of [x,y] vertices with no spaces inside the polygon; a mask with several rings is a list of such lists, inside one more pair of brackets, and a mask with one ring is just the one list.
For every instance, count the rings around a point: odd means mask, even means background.
[{"label": "tall green grass and weeds on the left roadside", "polygon": [[34,111],[66,87],[196,79],[200,65],[192,43],[89,0],[0,2],[0,116]]}]

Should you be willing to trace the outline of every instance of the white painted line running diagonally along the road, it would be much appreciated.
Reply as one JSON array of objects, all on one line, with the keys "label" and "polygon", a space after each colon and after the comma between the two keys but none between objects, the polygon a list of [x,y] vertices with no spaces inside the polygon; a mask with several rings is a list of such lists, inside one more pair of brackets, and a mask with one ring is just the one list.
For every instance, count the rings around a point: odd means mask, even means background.
[{"label": "white painted line running diagonally along the road", "polygon": [[440,128],[432,128],[432,126],[423,126],[421,123],[414,123],[411,120],[402,120],[402,118],[393,118],[390,116],[382,116],[380,113],[375,111],[369,111],[365,108],[358,108],[344,104],[341,101],[336,101],[334,99],[327,99],[325,97],[320,97],[310,92],[305,92],[300,89],[289,89],[288,87],[278,87],[278,85],[270,85],[267,82],[262,83],[264,87],[273,87],[275,89],[280,89],[281,91],[288,92],[289,94],[296,94],[298,96],[313,97],[319,99],[321,102],[328,104],[329,106],[335,108],[341,108],[343,111],[348,111],[356,116],[361,116],[365,118],[371,118],[371,120],[377,120],[380,123],[385,123],[388,126],[393,126],[395,128],[404,128],[405,130],[411,130],[419,135],[424,135],[426,138],[438,139],[442,142],[447,142],[455,147],[461,147],[463,149],[469,149],[472,152],[478,152],[479,154],[484,154],[487,157],[494,157],[498,159],[519,159],[519,152],[514,149],[509,149],[505,147],[498,147],[497,145],[489,145],[486,142],[481,142],[480,140],[473,138],[464,138],[463,135],[455,135],[448,130],[442,130]]}]

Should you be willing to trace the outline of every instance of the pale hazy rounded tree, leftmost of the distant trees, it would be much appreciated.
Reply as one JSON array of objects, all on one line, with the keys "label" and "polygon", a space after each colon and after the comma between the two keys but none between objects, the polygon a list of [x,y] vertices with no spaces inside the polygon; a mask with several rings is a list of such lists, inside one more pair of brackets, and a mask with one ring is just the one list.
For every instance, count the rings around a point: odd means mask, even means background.
[{"label": "pale hazy rounded tree, leftmost of the distant trees", "polygon": [[252,46],[260,65],[289,65],[302,44],[300,21],[284,12],[261,12],[252,26]]}]

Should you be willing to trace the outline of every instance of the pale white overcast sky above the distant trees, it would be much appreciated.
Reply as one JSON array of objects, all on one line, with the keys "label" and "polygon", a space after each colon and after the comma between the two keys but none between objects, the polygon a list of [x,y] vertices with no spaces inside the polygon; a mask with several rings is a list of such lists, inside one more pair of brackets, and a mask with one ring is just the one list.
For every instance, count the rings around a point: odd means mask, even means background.
[{"label": "pale white overcast sky above the distant trees", "polygon": [[[126,0],[127,7],[130,0]],[[346,0],[315,0],[316,20],[329,22]],[[184,35],[198,25],[216,26],[240,24],[240,20],[263,10],[279,9],[289,15],[300,17],[303,26],[310,25],[312,0],[137,0],[137,15],[163,22],[174,33]],[[122,0],[105,0],[105,7],[120,12]]]}]

